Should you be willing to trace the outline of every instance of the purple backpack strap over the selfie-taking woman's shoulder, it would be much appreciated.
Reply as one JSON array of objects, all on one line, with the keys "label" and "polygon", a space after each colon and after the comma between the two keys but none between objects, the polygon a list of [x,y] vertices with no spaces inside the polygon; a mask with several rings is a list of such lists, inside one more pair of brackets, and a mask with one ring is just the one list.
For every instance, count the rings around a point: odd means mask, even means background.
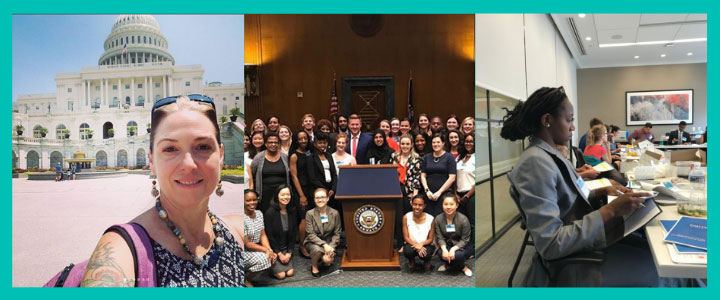
[{"label": "purple backpack strap over the selfie-taking woman's shoulder", "polygon": [[[137,223],[118,224],[113,227],[120,227],[127,232],[135,246],[133,258],[135,260],[135,287],[157,286],[157,275],[155,273],[155,255],[153,253],[150,237],[145,228]],[[111,230],[112,227],[108,230]],[[132,249],[132,248],[131,248]]]}]

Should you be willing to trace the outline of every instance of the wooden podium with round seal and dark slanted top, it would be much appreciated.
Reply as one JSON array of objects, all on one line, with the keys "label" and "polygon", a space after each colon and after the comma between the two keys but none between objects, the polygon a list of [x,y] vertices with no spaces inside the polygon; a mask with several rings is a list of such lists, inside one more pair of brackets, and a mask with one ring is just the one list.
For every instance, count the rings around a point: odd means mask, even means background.
[{"label": "wooden podium with round seal and dark slanted top", "polygon": [[347,237],[342,269],[400,269],[400,258],[393,250],[400,198],[397,166],[340,166],[335,199],[342,205]]}]

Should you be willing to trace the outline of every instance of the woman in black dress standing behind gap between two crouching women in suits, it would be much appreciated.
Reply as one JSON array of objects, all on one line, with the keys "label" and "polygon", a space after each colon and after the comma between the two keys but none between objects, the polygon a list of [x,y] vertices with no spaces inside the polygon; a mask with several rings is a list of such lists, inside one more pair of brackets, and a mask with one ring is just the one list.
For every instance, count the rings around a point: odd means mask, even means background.
[{"label": "woman in black dress standing behind gap between two crouching women in suits", "polygon": [[[310,144],[310,136],[304,130],[299,130],[293,134],[292,145],[290,145],[290,174],[293,183],[293,199],[295,207],[298,211],[298,237],[300,241],[305,240],[305,213],[312,209],[314,203],[308,201],[308,197],[312,198],[312,184],[308,175],[308,162],[312,145]],[[300,254],[304,257],[310,257],[303,243],[300,243]]]}]

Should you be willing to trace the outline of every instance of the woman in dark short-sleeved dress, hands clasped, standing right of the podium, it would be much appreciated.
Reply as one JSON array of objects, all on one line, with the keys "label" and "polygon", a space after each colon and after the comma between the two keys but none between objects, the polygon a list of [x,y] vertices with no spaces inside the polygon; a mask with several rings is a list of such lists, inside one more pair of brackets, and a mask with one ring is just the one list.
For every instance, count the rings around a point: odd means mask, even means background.
[{"label": "woman in dark short-sleeved dress, hands clasped, standing right of the podium", "polygon": [[420,180],[428,198],[427,212],[437,216],[442,212],[438,202],[440,195],[449,190],[455,182],[457,164],[452,154],[445,151],[445,136],[440,133],[431,139],[433,152],[423,157]]}]

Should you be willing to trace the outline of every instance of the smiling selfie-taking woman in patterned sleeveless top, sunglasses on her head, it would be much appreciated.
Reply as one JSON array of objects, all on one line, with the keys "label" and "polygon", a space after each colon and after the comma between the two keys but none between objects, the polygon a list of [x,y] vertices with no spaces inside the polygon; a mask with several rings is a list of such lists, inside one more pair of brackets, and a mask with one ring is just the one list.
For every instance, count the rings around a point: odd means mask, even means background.
[{"label": "smiling selfie-taking woman in patterned sleeveless top, sunglasses on her head", "polygon": [[93,251],[81,286],[243,286],[241,229],[208,208],[210,195],[222,194],[224,153],[213,100],[202,95],[160,99],[151,111],[151,128],[148,155],[157,176],[151,190],[156,203],[131,222],[150,238],[156,282],[137,278],[131,247],[109,231]]}]

